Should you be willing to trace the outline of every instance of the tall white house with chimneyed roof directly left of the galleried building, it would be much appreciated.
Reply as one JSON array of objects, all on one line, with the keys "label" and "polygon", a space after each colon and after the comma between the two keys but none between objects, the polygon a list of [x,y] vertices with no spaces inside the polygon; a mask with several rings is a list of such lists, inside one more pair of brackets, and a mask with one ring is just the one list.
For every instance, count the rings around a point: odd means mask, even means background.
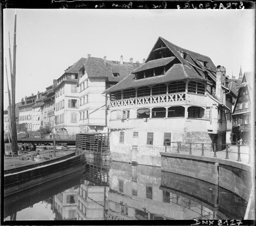
[{"label": "tall white house with chimneyed roof directly left of the galleried building", "polygon": [[117,84],[128,76],[139,62],[110,61],[91,57],[88,54],[84,65],[79,70],[77,87],[79,89],[79,133],[108,132],[108,95],[102,94],[107,88]]}]

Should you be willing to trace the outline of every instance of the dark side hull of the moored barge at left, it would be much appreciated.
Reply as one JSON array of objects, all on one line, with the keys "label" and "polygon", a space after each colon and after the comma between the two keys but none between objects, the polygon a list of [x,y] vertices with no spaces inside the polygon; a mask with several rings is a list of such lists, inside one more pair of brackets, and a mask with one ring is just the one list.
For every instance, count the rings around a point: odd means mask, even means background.
[{"label": "dark side hull of the moored barge at left", "polygon": [[84,153],[67,157],[59,161],[55,159],[52,162],[35,164],[33,168],[5,174],[5,197],[69,174],[75,174],[84,167]]}]

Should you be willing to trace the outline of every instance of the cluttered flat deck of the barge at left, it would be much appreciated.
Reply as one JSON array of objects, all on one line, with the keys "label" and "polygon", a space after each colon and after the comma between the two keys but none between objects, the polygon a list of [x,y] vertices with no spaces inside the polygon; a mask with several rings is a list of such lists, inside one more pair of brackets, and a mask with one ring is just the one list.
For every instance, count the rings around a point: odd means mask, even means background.
[{"label": "cluttered flat deck of the barge at left", "polygon": [[[36,163],[41,163],[41,162],[47,162],[52,159],[56,159],[59,157],[66,156],[68,154],[74,153],[72,150],[61,150],[61,151],[56,151],[56,157],[49,157],[49,152],[48,151],[40,151],[40,156],[36,157],[36,152],[31,151],[30,153],[24,155],[24,156],[14,156],[13,159],[12,157],[5,156],[4,157],[4,170],[11,170],[14,168],[19,168],[22,166],[28,166],[28,165],[34,165]],[[51,153],[53,156],[53,153]],[[27,160],[25,156],[34,156],[34,161],[32,160]],[[13,164],[14,163],[14,164]],[[14,166],[15,165],[15,166]]]}]

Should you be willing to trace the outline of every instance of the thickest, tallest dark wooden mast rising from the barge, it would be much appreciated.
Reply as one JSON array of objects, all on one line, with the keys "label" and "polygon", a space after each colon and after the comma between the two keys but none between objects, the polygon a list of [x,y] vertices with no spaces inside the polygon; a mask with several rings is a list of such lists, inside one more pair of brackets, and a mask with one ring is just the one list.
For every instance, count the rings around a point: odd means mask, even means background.
[{"label": "thickest, tallest dark wooden mast rising from the barge", "polygon": [[18,153],[17,144],[17,130],[16,130],[16,117],[15,117],[15,80],[16,80],[16,20],[17,15],[15,11],[14,20],[14,41],[13,41],[13,75],[12,75],[12,151],[13,153]]}]

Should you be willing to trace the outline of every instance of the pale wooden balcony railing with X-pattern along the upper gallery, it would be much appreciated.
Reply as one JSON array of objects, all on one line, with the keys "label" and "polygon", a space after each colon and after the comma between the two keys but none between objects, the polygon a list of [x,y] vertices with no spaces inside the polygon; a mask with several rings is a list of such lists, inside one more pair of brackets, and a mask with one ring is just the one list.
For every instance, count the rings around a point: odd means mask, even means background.
[{"label": "pale wooden balcony railing with X-pattern along the upper gallery", "polygon": [[140,104],[160,104],[174,101],[185,101],[185,93],[166,94],[159,96],[145,96],[111,101],[111,107],[131,106]]}]

